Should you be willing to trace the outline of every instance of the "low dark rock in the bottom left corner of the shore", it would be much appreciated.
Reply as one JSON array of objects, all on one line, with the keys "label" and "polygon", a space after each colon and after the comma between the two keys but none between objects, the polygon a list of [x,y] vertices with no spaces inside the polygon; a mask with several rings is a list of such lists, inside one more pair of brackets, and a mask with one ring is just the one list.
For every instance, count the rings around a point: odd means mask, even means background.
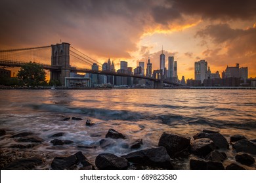
[{"label": "low dark rock in the bottom left corner of the shore", "polygon": [[3,169],[31,170],[31,169],[35,169],[37,165],[41,165],[42,163],[43,163],[43,159],[38,157],[16,159],[15,161],[12,161],[9,165],[4,167]]}]

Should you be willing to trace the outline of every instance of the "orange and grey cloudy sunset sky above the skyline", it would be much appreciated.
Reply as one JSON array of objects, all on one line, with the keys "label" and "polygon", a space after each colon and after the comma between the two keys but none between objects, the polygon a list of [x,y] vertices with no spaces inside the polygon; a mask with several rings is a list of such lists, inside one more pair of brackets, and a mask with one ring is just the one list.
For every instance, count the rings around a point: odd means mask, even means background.
[{"label": "orange and grey cloudy sunset sky above the skyline", "polygon": [[200,59],[212,73],[240,63],[256,77],[255,0],[1,0],[0,26],[0,50],[61,40],[116,69],[148,58],[159,69],[163,46],[179,79],[194,78]]}]

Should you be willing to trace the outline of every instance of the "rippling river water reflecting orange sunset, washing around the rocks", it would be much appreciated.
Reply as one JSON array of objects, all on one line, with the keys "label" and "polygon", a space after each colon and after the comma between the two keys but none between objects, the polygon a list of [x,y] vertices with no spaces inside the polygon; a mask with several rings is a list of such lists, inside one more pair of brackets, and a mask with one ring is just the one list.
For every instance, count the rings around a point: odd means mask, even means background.
[{"label": "rippling river water reflecting orange sunset, washing around the rocks", "polygon": [[[0,138],[3,152],[13,153],[10,146],[17,142],[11,136],[16,133],[30,131],[43,139],[33,148],[15,152],[16,156],[34,153],[45,157],[37,169],[51,169],[54,157],[79,150],[92,163],[103,152],[128,154],[132,150],[127,144],[137,139],[143,139],[140,149],[152,148],[164,131],[192,137],[211,129],[228,141],[235,134],[256,139],[256,90],[0,90],[0,110],[0,129],[7,131]],[[83,120],[63,120],[72,116]],[[95,125],[86,126],[88,119]],[[102,148],[99,141],[110,128],[127,139]],[[51,137],[58,132],[64,135]],[[53,139],[74,143],[53,146]],[[188,161],[182,162],[181,169],[187,168]]]}]

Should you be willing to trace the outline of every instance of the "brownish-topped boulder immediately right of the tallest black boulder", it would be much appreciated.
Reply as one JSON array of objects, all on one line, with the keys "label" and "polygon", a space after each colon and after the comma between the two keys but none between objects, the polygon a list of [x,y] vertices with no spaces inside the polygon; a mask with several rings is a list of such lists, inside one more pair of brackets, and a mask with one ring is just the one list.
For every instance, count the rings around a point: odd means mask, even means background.
[{"label": "brownish-topped boulder immediately right of the tallest black boulder", "polygon": [[198,155],[198,156],[206,156],[210,152],[215,150],[215,144],[211,139],[196,139],[191,144],[191,152],[192,154]]}]

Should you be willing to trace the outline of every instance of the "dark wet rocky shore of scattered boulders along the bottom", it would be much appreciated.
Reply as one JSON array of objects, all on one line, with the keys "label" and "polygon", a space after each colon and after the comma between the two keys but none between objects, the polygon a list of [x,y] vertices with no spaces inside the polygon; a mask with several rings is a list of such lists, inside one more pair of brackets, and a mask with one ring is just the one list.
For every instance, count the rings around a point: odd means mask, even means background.
[{"label": "dark wet rocky shore of scattered boulders along the bottom", "polygon": [[[64,120],[70,119],[82,120],[75,117],[64,118]],[[87,120],[85,125],[90,128],[91,125],[96,124]],[[95,162],[90,162],[86,158],[87,154],[78,150],[70,156],[54,158],[30,153],[30,148],[41,144],[46,139],[40,139],[30,131],[13,134],[11,137],[10,133],[7,129],[0,129],[1,140],[14,138],[17,142],[11,144],[9,148],[13,151],[9,154],[0,150],[1,169],[38,169],[38,166],[46,162],[51,163],[49,169],[181,169],[180,165],[184,161],[189,162],[189,169],[193,170],[256,169],[253,158],[256,155],[256,140],[247,139],[242,135],[233,135],[230,139],[226,139],[221,133],[211,130],[199,131],[193,137],[163,132],[158,144],[147,149],[142,148],[143,139],[137,139],[131,144],[125,144],[125,148],[133,150],[131,153],[121,157],[109,153],[98,154]],[[52,146],[73,143],[72,139],[65,141],[58,139],[62,135],[64,133],[59,132],[49,137],[53,139]],[[99,146],[79,146],[78,148],[104,149],[111,145],[112,139],[124,141],[127,136],[115,129],[109,129],[106,131],[106,137],[99,142]]]}]

